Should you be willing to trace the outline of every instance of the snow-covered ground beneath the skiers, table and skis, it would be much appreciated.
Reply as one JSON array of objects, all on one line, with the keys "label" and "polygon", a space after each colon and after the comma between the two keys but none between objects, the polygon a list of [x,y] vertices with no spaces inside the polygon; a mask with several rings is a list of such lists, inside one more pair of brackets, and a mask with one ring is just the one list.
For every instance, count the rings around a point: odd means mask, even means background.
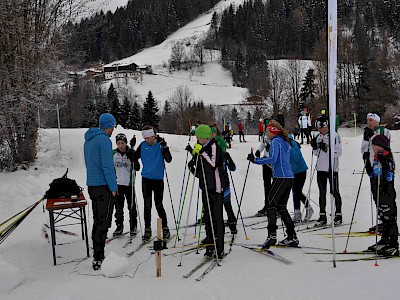
[{"label": "snow-covered ground beneath the skiers, table and skis", "polygon": [[[350,129],[340,129],[343,140],[343,156],[340,160],[340,191],[343,198],[344,222],[349,222],[354,208],[355,198],[360,174],[354,171],[362,169],[362,160],[359,154],[361,131],[354,136]],[[48,184],[56,177],[60,177],[66,168],[69,168],[69,177],[77,180],[78,184],[85,187],[85,165],[83,158],[83,134],[85,129],[63,129],[61,131],[62,150],[59,150],[58,131],[53,129],[41,130],[38,158],[34,166],[28,170],[14,173],[0,173],[0,222],[8,219],[18,211],[33,204],[41,198],[48,189]],[[125,132],[130,139],[133,134],[142,140],[140,132],[124,130],[118,127],[112,137],[115,145],[115,135]],[[172,199],[177,211],[186,158],[184,150],[187,136],[163,134],[170,145],[173,161],[167,164],[168,178],[171,185]],[[399,151],[400,132],[392,132],[392,147]],[[234,183],[241,195],[244,177],[248,162],[247,153],[251,147],[258,145],[256,136],[247,136],[247,143],[239,143],[237,136],[234,138],[230,153],[238,168],[233,173]],[[194,141],[191,141],[193,144]],[[302,152],[310,166],[311,149],[304,145]],[[395,154],[399,161],[399,154]],[[314,159],[315,164],[315,159]],[[308,174],[309,175],[309,174]],[[399,192],[398,178],[396,179],[397,192]],[[140,216],[143,222],[143,198],[141,195],[141,178],[137,177],[136,191],[138,195]],[[252,215],[263,205],[261,167],[251,165],[248,173],[247,184],[243,197],[242,212],[244,216]],[[309,177],[304,187],[306,193],[309,186]],[[189,185],[189,191],[191,190]],[[188,195],[190,193],[188,192]],[[316,180],[311,184],[311,199],[317,201],[318,188]],[[195,208],[197,202],[197,184],[195,185],[193,202],[189,223],[196,219]],[[318,201],[317,201],[318,202]],[[232,203],[237,211],[236,200]],[[168,194],[164,192],[164,205],[167,210],[170,228],[174,227],[173,214]],[[186,222],[189,196],[185,204],[183,223]],[[313,204],[317,216],[318,208]],[[328,208],[328,211],[330,209]],[[289,211],[293,211],[291,198]],[[86,209],[88,215],[89,232],[92,227],[92,213],[90,201]],[[127,211],[125,212],[127,216]],[[127,219],[127,218],[126,218]],[[156,211],[153,208],[153,233],[156,227]],[[258,219],[244,220],[246,224]],[[364,178],[362,189],[355,214],[356,223],[353,230],[366,230],[371,226],[370,192],[367,178]],[[203,281],[197,282],[195,278],[201,273],[198,271],[192,277],[185,279],[186,274],[203,257],[200,254],[184,255],[182,266],[178,267],[180,256],[166,256],[162,258],[162,277],[156,277],[154,255],[147,248],[143,248],[132,257],[126,258],[125,254],[139,244],[136,238],[133,245],[126,249],[122,246],[127,237],[112,241],[106,246],[106,255],[112,256],[110,261],[127,262],[121,267],[111,264],[108,271],[123,271],[121,277],[110,278],[103,275],[103,271],[94,272],[91,268],[92,259],[81,262],[76,260],[85,257],[84,243],[73,236],[57,233],[59,243],[70,242],[69,245],[57,246],[59,265],[53,266],[51,246],[42,236],[42,227],[48,223],[48,213],[42,207],[37,207],[25,221],[0,245],[0,298],[1,299],[395,299],[399,295],[398,272],[399,259],[379,261],[379,266],[374,266],[374,261],[338,262],[333,268],[330,262],[315,262],[315,259],[332,258],[331,255],[305,254],[307,249],[282,249],[272,250],[291,260],[291,265],[285,265],[269,257],[234,245],[232,253],[208,274]],[[128,228],[128,224],[125,228]],[[265,223],[264,223],[265,224]],[[79,233],[79,226],[70,226],[63,229]],[[109,236],[114,231],[115,225],[109,231]],[[239,234],[237,243],[262,243],[267,235],[266,229],[253,230],[246,227],[249,240],[246,240],[243,228],[238,226]],[[348,231],[348,226],[336,229],[337,232]],[[174,230],[173,230],[174,232]],[[322,232],[330,233],[330,230]],[[332,248],[332,240],[319,235],[321,232],[298,233],[301,246],[315,246]],[[194,228],[188,229],[186,242],[193,242]],[[183,231],[180,232],[183,238]],[[226,235],[226,240],[230,234]],[[283,239],[282,231],[278,231],[278,239]],[[375,238],[353,237],[350,238],[347,250],[362,250],[373,244]],[[336,239],[336,249],[341,252],[345,247],[346,239]],[[90,241],[91,244],[91,241]],[[164,253],[172,253],[178,249],[170,249]],[[177,245],[181,245],[178,242]],[[225,246],[229,249],[229,245]],[[110,255],[111,254],[111,255]],[[337,255],[337,258],[359,257],[353,255]],[[114,269],[113,269],[114,268]],[[124,270],[123,270],[124,269]]]}]

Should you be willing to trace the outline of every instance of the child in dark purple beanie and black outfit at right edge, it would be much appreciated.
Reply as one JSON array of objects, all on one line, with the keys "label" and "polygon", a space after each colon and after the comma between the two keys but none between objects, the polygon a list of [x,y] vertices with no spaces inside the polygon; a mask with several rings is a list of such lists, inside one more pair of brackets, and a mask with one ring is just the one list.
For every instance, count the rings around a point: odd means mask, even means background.
[{"label": "child in dark purple beanie and black outfit at right edge", "polygon": [[385,135],[372,138],[374,161],[370,174],[372,193],[378,199],[378,214],[382,220],[382,238],[368,251],[377,251],[379,255],[399,255],[399,229],[397,226],[396,190],[394,188],[395,163],[390,150],[389,139]]}]

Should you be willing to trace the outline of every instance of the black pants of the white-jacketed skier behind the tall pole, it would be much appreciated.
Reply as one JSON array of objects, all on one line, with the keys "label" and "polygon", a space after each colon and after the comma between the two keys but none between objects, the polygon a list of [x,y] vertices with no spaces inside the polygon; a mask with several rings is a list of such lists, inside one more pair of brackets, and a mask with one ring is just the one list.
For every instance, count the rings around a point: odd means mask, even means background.
[{"label": "black pants of the white-jacketed skier behind the tall pole", "polygon": [[[317,171],[317,183],[319,188],[319,214],[326,215],[326,185],[329,179],[329,185],[332,186],[330,172]],[[334,182],[334,194],[335,198],[335,214],[342,213],[342,197],[339,192],[339,174],[338,172],[333,172],[333,182]]]}]

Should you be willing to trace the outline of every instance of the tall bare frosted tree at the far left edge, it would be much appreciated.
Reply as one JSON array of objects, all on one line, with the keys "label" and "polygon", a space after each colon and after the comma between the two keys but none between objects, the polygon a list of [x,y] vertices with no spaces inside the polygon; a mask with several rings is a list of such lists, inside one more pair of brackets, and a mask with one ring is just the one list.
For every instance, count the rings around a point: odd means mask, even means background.
[{"label": "tall bare frosted tree at the far left edge", "polygon": [[58,79],[60,30],[85,2],[0,1],[0,125],[14,166],[36,156],[38,108]]}]

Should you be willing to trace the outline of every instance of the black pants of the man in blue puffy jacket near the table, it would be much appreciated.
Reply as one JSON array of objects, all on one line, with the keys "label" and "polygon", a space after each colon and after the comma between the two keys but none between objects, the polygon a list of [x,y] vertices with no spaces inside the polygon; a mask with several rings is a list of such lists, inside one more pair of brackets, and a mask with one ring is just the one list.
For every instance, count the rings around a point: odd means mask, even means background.
[{"label": "black pants of the man in blue puffy jacket near the table", "polygon": [[93,211],[93,258],[104,259],[104,247],[107,239],[108,228],[111,226],[114,197],[106,185],[89,186],[89,196],[92,200]]}]

